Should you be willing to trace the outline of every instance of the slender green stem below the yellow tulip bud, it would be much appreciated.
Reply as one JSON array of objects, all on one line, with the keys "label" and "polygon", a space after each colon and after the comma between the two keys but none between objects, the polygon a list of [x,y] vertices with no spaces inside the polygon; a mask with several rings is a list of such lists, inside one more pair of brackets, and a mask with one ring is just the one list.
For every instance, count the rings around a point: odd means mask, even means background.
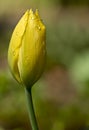
[{"label": "slender green stem below the yellow tulip bud", "polygon": [[29,114],[32,130],[39,130],[36,121],[35,112],[34,112],[34,107],[33,107],[31,89],[29,90],[25,87],[25,93],[27,97],[28,114]]}]

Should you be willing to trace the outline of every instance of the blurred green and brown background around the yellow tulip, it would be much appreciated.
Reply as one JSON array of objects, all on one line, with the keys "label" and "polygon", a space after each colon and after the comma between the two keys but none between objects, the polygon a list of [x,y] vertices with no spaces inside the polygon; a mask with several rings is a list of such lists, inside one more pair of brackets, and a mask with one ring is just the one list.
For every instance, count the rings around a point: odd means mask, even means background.
[{"label": "blurred green and brown background around the yellow tulip", "polygon": [[14,27],[28,9],[46,25],[47,63],[33,86],[40,130],[89,130],[89,1],[0,0],[0,130],[31,130],[24,88],[7,63]]}]

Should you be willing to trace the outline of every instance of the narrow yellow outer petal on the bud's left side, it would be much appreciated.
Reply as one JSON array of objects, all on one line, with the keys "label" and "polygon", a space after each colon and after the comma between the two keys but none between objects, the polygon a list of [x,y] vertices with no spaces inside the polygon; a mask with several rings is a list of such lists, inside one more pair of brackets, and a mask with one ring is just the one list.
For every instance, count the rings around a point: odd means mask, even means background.
[{"label": "narrow yellow outer petal on the bud's left side", "polygon": [[11,72],[15,79],[18,82],[21,82],[20,74],[18,70],[18,56],[19,56],[19,48],[22,44],[22,37],[24,35],[27,21],[28,21],[29,11],[24,14],[24,16],[21,18],[17,26],[15,27],[15,30],[12,34],[9,50],[8,50],[8,63],[9,67],[11,69]]}]

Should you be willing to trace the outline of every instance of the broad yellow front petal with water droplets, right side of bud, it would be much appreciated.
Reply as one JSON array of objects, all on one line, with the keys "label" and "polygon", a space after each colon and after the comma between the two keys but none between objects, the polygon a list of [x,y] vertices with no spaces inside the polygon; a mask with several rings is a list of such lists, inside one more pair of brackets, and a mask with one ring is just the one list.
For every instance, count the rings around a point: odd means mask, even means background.
[{"label": "broad yellow front petal with water droplets, right side of bud", "polygon": [[[37,13],[37,12],[36,12]],[[40,77],[45,65],[45,26],[29,11],[28,23],[21,44],[18,67],[26,86],[32,86]]]}]

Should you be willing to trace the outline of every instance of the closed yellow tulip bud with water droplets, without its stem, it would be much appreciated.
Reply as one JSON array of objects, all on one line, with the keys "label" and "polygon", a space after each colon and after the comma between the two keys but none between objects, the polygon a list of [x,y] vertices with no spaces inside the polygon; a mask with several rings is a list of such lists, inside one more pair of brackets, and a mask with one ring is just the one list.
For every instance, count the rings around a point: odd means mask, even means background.
[{"label": "closed yellow tulip bud with water droplets, without its stem", "polygon": [[14,29],[8,63],[15,79],[32,86],[41,76],[46,57],[45,26],[38,11],[27,10]]}]

